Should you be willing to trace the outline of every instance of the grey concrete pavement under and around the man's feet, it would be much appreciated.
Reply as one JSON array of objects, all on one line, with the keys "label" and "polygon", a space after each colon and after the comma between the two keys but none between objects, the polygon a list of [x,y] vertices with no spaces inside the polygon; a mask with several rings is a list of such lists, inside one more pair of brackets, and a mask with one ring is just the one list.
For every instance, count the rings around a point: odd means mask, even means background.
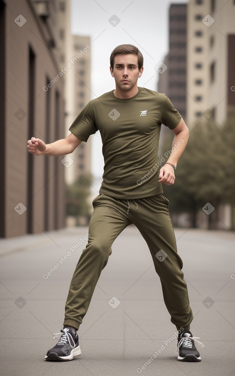
[{"label": "grey concrete pavement under and around the man's feet", "polygon": [[176,360],[176,329],[134,226],[114,242],[102,271],[79,329],[81,356],[46,362],[87,233],[77,227],[0,240],[2,376],[235,375],[235,234],[229,231],[175,231],[195,316],[191,331],[205,345],[197,346],[202,362]]}]

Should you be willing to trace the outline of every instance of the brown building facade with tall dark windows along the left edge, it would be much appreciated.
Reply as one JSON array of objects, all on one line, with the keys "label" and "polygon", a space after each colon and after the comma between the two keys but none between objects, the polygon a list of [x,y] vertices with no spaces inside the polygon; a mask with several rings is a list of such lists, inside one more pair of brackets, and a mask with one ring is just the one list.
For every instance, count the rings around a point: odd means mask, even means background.
[{"label": "brown building facade with tall dark windows along the left edge", "polygon": [[65,137],[64,82],[57,46],[59,2],[1,0],[1,237],[65,225],[62,157],[28,153],[32,136]]}]

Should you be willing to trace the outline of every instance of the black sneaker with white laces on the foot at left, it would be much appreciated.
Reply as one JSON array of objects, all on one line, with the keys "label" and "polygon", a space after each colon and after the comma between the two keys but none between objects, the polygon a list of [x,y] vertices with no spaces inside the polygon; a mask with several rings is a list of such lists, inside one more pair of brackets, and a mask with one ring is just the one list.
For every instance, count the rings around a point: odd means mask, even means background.
[{"label": "black sneaker with white laces on the foot at left", "polygon": [[[81,353],[78,335],[76,334],[76,336],[74,336],[69,328],[61,329],[60,332],[63,334],[58,343],[47,352],[45,359],[48,361],[68,361],[72,360],[73,357],[77,357]],[[60,333],[55,333],[54,338],[59,334]]]}]

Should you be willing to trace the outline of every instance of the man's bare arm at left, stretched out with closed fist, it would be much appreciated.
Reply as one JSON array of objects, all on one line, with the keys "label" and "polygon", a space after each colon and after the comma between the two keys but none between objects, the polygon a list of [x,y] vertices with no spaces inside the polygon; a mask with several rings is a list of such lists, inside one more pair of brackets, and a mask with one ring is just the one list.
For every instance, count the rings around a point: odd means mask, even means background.
[{"label": "man's bare arm at left, stretched out with closed fist", "polygon": [[70,133],[66,138],[48,144],[45,144],[39,138],[32,137],[28,141],[27,148],[29,153],[34,155],[51,155],[56,157],[72,153],[81,142],[82,140],[73,133]]}]

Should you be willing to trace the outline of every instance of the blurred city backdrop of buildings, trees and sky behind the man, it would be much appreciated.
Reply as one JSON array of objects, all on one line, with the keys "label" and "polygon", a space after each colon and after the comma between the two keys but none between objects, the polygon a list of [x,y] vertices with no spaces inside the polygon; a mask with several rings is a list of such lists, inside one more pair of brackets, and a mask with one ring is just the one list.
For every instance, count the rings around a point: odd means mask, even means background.
[{"label": "blurred city backdrop of buildings, trees and sky behind the man", "polygon": [[[64,138],[88,103],[114,89],[120,44],[144,56],[139,86],[165,93],[190,138],[174,186],[178,227],[235,229],[235,1],[0,0],[0,236],[87,225],[99,191],[99,134],[71,155],[35,157],[32,136]],[[159,159],[173,133],[162,126]]]}]

